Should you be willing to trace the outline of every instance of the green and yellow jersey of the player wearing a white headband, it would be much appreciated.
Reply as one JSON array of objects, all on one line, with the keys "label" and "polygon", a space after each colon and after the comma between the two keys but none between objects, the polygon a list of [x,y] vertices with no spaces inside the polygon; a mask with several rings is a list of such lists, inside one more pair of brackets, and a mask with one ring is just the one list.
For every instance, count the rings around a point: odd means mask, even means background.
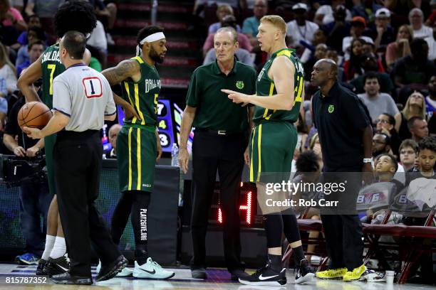
[{"label": "green and yellow jersey of the player wearing a white headband", "polygon": [[141,78],[137,82],[125,80],[123,87],[123,99],[135,108],[141,120],[136,117],[125,120],[125,124],[147,125],[155,127],[157,124],[157,98],[160,93],[160,77],[154,66],[145,62],[140,56],[131,58],[140,65]]}]

